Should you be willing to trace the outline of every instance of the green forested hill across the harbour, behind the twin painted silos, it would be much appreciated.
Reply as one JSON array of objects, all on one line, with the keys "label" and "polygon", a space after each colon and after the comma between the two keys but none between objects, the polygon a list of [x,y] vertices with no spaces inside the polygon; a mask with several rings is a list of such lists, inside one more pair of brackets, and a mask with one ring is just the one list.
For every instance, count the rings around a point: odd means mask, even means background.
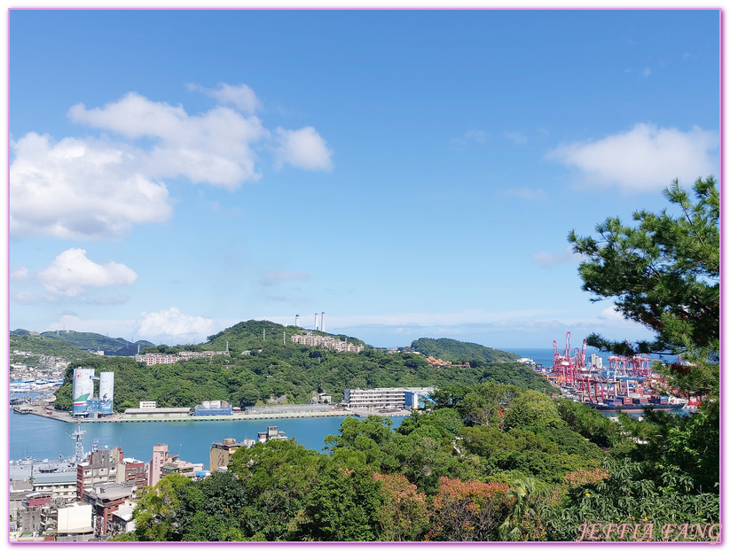
[{"label": "green forested hill across the harbour, behind the twin painted silos", "polygon": [[[436,368],[421,354],[388,354],[372,347],[359,354],[336,353],[323,347],[301,346],[291,341],[294,331],[298,329],[249,321],[211,336],[205,344],[154,347],[169,352],[182,348],[224,351],[227,344],[229,356],[150,367],[132,359],[96,357],[75,365],[117,372],[117,411],[136,407],[139,400],[157,400],[160,407],[192,407],[202,400],[228,400],[244,407],[282,395],[289,402],[306,403],[315,392],[330,393],[334,400],[341,400],[345,389],[358,387],[440,387],[498,381],[525,389],[550,389],[545,379],[519,364],[474,362],[471,368]],[[67,383],[56,393],[57,408],[70,408],[75,365],[69,367]]]}]

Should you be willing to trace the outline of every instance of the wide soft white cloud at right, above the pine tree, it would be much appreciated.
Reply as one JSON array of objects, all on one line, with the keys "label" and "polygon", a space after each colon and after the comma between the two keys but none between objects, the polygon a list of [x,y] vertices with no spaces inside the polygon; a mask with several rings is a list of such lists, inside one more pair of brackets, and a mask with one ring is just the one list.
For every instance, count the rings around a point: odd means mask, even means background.
[{"label": "wide soft white cloud at right, above the pine tree", "polygon": [[717,133],[699,127],[682,132],[637,124],[593,142],[561,145],[546,157],[577,168],[584,184],[646,192],[661,190],[675,178],[695,182],[716,173],[717,147]]}]

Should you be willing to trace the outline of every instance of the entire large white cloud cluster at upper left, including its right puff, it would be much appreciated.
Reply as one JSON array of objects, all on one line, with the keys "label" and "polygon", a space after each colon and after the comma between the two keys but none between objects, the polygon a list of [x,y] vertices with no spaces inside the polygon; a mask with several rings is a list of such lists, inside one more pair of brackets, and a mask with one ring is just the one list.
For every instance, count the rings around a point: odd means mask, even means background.
[{"label": "entire large white cloud cluster at upper left, including its right puff", "polygon": [[[244,84],[203,91],[246,113],[260,105]],[[271,141],[254,115],[222,105],[191,115],[135,92],[103,107],[74,105],[68,117],[111,135],[54,142],[30,132],[11,144],[13,237],[119,237],[137,223],[165,222],[172,214],[165,179],[235,190],[261,179],[255,148]],[[278,128],[276,136],[278,167],[332,169],[332,151],[314,128]]]}]

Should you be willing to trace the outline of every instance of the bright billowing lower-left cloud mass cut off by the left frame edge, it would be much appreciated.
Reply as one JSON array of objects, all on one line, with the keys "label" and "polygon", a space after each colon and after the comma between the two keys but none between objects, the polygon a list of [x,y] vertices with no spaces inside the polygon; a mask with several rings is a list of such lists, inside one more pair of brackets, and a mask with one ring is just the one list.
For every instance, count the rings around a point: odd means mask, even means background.
[{"label": "bright billowing lower-left cloud mass cut off by the left frame edge", "polygon": [[11,147],[12,236],[114,237],[172,212],[165,184],[136,172],[134,153],[123,147],[75,138],[53,144],[35,132]]}]

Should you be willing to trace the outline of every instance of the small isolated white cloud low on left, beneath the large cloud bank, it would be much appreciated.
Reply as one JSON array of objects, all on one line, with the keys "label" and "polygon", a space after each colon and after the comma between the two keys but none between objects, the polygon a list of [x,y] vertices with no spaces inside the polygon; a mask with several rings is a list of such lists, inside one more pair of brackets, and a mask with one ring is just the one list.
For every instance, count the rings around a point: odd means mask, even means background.
[{"label": "small isolated white cloud low on left, beneath the large cloud bank", "polygon": [[76,297],[88,287],[134,284],[137,273],[117,262],[97,264],[86,258],[85,250],[72,248],[60,253],[38,277],[49,292]]}]

